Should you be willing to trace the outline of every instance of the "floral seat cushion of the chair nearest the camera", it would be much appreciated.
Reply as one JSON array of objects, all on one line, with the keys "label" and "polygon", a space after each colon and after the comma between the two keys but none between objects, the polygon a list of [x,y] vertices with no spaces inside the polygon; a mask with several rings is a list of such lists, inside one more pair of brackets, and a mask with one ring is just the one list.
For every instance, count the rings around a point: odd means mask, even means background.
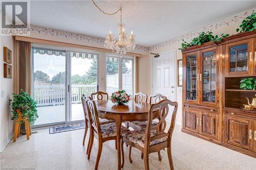
[{"label": "floral seat cushion of the chair nearest the camera", "polygon": [[[151,137],[154,137],[156,134],[157,132],[155,130],[151,130]],[[122,134],[122,136],[132,141],[133,143],[139,144],[142,148],[144,148],[145,130],[134,130],[134,131],[125,132]],[[167,139],[168,139],[167,137],[155,139],[150,142],[150,145],[161,143],[163,141],[166,141]]]}]

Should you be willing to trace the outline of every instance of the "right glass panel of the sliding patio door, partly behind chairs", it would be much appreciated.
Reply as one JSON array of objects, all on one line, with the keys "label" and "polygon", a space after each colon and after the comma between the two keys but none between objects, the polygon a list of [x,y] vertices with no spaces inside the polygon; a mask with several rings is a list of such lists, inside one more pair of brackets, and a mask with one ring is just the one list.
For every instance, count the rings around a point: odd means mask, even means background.
[{"label": "right glass panel of the sliding patio door, partly behind chairs", "polygon": [[70,121],[84,119],[81,96],[98,89],[98,55],[69,52],[70,55]]}]

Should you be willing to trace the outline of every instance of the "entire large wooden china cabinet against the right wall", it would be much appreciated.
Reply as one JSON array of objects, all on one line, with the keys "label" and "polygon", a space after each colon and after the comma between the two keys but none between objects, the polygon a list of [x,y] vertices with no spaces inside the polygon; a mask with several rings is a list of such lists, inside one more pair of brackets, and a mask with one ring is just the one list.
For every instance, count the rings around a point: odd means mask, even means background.
[{"label": "entire large wooden china cabinet against the right wall", "polygon": [[256,157],[256,111],[242,109],[256,90],[256,31],[182,50],[182,131]]}]

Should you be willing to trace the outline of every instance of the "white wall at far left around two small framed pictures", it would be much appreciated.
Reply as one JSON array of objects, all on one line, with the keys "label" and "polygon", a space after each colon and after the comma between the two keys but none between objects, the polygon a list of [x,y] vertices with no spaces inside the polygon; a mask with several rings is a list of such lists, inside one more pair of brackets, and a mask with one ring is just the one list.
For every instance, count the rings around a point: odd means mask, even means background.
[{"label": "white wall at far left around two small framed pictures", "polygon": [[[9,99],[13,93],[13,78],[4,78],[4,52],[3,47],[6,46],[14,55],[14,40],[12,36],[1,36],[0,38],[0,90],[4,91],[4,97],[0,98],[0,152],[4,150],[8,142],[13,136],[13,120],[11,120],[11,109]],[[13,68],[12,60],[12,68]]]}]

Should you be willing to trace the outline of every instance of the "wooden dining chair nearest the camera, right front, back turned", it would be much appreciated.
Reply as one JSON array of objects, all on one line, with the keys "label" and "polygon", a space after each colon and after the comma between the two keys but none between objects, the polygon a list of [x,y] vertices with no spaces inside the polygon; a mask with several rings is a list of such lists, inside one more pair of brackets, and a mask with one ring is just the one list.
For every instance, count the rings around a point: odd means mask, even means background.
[{"label": "wooden dining chair nearest the camera, right front, back turned", "polygon": [[[172,120],[170,122],[170,127],[168,132],[165,132],[167,123],[166,123],[166,116],[169,112],[169,106],[174,107]],[[169,160],[170,169],[174,169],[173,165],[173,158],[172,158],[172,135],[175,127],[175,119],[176,113],[178,109],[178,103],[172,102],[167,99],[160,101],[157,104],[152,104],[150,110],[148,111],[148,118],[147,118],[147,126],[146,129],[141,130],[133,130],[129,132],[125,132],[122,134],[121,139],[121,154],[122,154],[122,164],[121,167],[124,165],[124,153],[123,153],[123,143],[127,143],[130,147],[135,147],[139,149],[144,154],[144,165],[145,169],[150,169],[148,155],[153,152],[159,152],[167,148],[167,155]],[[153,112],[158,110],[159,111],[159,122],[157,124],[156,130],[152,129],[152,121],[153,121]],[[132,163],[131,159],[131,150],[129,148],[129,160]]]}]

